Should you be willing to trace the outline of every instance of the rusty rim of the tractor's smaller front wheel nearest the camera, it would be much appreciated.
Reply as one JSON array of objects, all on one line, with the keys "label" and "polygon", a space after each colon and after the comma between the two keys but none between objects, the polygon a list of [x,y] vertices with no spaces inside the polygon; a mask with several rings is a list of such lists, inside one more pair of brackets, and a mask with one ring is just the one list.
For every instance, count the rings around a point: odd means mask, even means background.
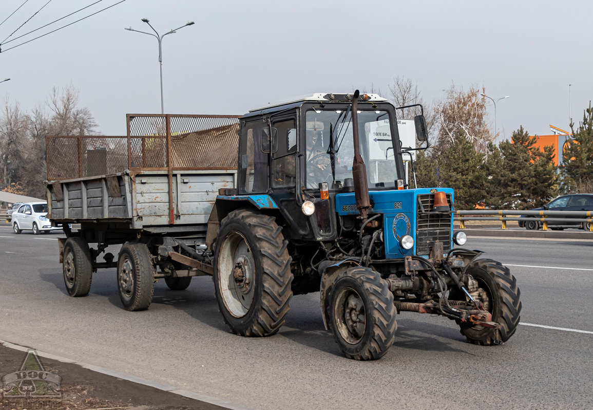
[{"label": "rusty rim of the tractor's smaller front wheel nearest the camera", "polygon": [[361,341],[366,329],[365,304],[361,295],[352,288],[343,288],[334,306],[337,330],[351,345]]}]

